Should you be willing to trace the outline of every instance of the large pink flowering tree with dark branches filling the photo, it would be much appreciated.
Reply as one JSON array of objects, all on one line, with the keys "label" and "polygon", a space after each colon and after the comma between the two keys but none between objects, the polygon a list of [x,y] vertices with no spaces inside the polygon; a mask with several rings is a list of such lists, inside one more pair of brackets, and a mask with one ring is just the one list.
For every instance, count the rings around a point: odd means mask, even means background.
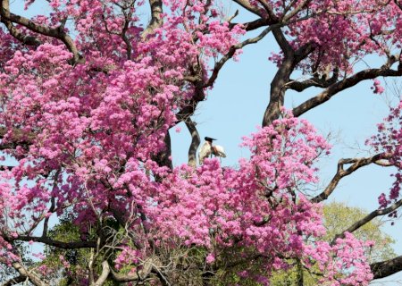
[{"label": "large pink flowering tree with dark branches filling the photo", "polygon": [[[402,205],[401,106],[368,141],[376,154],[340,159],[318,193],[309,186],[330,145],[299,119],[359,82],[381,93],[379,77],[402,76],[402,3],[232,2],[255,20],[213,0],[49,0],[33,18],[0,1],[0,150],[18,162],[0,171],[3,285],[214,285],[228,273],[269,285],[295,262],[322,285],[367,285],[402,270],[402,257],[370,265],[373,241],[353,236]],[[198,165],[198,103],[225,63],[269,34],[278,69],[262,127],[243,141],[251,155]],[[355,71],[367,55],[384,63]],[[300,72],[306,80],[292,79]],[[283,108],[288,90],[309,88],[321,91]],[[188,164],[173,168],[169,130],[180,122],[192,141]],[[389,194],[325,241],[322,202],[368,164],[397,167]],[[44,253],[27,252],[39,243]]]}]

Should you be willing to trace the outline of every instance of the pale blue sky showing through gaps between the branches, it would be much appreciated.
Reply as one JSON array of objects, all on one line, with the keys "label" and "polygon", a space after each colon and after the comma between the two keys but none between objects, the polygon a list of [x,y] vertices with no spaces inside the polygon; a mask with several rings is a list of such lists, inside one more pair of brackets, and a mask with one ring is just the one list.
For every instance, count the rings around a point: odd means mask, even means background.
[{"label": "pale blue sky showing through gaps between the branches", "polygon": [[[16,13],[22,12],[23,1],[14,1],[12,9]],[[42,6],[34,4],[30,13],[40,13]],[[228,11],[233,13],[237,9],[232,4]],[[43,12],[42,12],[43,13]],[[247,19],[249,15],[240,10],[238,21]],[[269,88],[276,66],[268,61],[271,52],[278,51],[278,46],[272,37],[264,38],[256,45],[247,46],[239,63],[230,61],[223,67],[214,89],[208,93],[208,98],[202,102],[193,120],[197,122],[197,129],[201,138],[205,136],[218,139],[216,144],[225,147],[227,158],[222,159],[224,165],[237,164],[239,157],[247,156],[247,151],[239,147],[242,136],[255,131],[263,119],[264,110],[269,100]],[[381,65],[381,59],[371,57],[366,59],[372,66]],[[392,85],[392,80],[387,80]],[[333,97],[329,102],[308,112],[303,117],[314,123],[316,128],[327,135],[333,135],[331,141],[334,147],[331,156],[323,158],[320,166],[322,184],[331,180],[336,171],[339,158],[366,156],[359,154],[358,145],[362,149],[364,140],[368,139],[376,130],[376,123],[381,122],[389,108],[387,102],[391,99],[397,101],[394,92],[387,91],[379,96],[374,95],[370,87],[373,81],[350,88]],[[399,87],[402,80],[398,81]],[[286,107],[291,108],[312,97],[318,89],[308,90],[306,93],[291,93],[286,99]],[[184,124],[180,125],[180,133],[172,130],[172,157],[173,164],[187,163],[190,137]],[[204,140],[202,140],[202,143]],[[378,207],[377,198],[381,192],[387,192],[391,184],[389,172],[379,166],[368,166],[360,169],[351,176],[343,179],[339,188],[335,190],[332,200],[347,202],[350,206],[363,207],[373,211]],[[387,231],[397,243],[395,245],[398,255],[402,255],[402,231],[400,222],[394,226],[384,223]],[[402,282],[402,274],[389,277],[387,285],[395,285],[396,280]]]}]

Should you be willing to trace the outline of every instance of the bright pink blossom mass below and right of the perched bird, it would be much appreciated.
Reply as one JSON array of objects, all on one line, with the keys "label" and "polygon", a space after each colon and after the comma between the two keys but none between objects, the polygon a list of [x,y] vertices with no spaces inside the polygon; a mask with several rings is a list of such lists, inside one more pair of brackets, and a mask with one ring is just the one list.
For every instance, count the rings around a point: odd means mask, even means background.
[{"label": "bright pink blossom mass below and right of the perched bird", "polygon": [[156,243],[214,249],[205,258],[209,264],[219,258],[217,249],[252,247],[276,257],[264,261],[265,274],[289,267],[279,257],[299,257],[307,266],[312,261],[322,265],[333,285],[366,285],[372,279],[364,258],[367,245],[351,234],[334,246],[320,241],[325,234],[321,206],[291,191],[317,180],[314,160],[328,152],[328,143],[311,124],[287,115],[245,138],[243,145],[252,156],[240,160],[238,169],[206,159],[196,170],[182,165],[165,177],[155,204],[148,206]]}]

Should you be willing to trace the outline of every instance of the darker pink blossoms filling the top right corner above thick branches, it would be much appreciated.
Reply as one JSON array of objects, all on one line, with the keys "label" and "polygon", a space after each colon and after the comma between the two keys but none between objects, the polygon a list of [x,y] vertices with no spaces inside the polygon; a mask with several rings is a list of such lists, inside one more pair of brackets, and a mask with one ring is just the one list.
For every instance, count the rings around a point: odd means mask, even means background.
[{"label": "darker pink blossoms filling the top right corner above thick branches", "polygon": [[[264,10],[259,1],[253,2]],[[269,1],[280,19],[295,13],[285,34],[297,49],[311,46],[314,52],[299,64],[303,71],[325,71],[328,66],[351,72],[350,60],[364,55],[384,55],[389,46],[400,48],[402,24],[400,10],[393,1],[324,0]],[[393,33],[387,31],[393,30]],[[274,55],[274,63],[281,62]]]}]

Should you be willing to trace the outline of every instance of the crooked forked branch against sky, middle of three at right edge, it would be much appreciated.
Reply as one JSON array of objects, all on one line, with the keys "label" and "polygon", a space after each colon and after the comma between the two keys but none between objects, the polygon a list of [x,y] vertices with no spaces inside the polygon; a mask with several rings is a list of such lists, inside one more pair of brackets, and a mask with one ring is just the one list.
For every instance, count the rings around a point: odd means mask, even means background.
[{"label": "crooked forked branch against sky, middle of three at right edge", "polygon": [[[333,190],[338,186],[339,181],[343,178],[355,172],[357,169],[364,167],[368,164],[378,164],[381,166],[389,166],[389,164],[384,164],[383,160],[386,160],[390,157],[389,154],[377,154],[371,157],[365,158],[348,158],[348,159],[340,159],[338,162],[337,173],[333,176],[330,184],[322,191],[321,194],[314,197],[311,201],[314,203],[322,202],[323,200],[329,198],[333,192]],[[346,170],[344,169],[345,164],[352,164]]]}]

